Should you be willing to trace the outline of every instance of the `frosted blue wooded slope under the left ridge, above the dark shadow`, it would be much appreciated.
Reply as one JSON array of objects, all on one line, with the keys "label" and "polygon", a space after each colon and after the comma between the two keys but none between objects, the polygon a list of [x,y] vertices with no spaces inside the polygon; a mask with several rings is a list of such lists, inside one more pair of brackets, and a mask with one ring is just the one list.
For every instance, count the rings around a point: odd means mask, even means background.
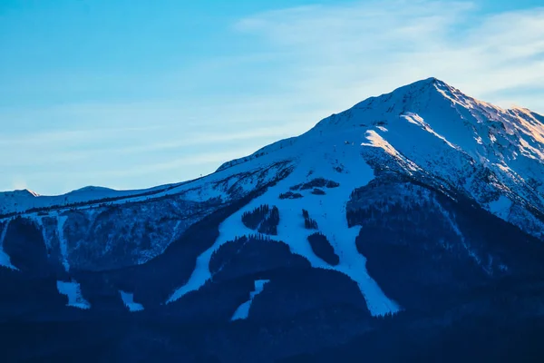
[{"label": "frosted blue wooded slope under the left ridge, above the dark shadow", "polygon": [[[160,255],[190,225],[228,202],[263,188],[289,170],[289,162],[244,165],[234,173],[216,172],[199,180],[145,193],[138,191],[122,198],[25,210],[20,216],[33,221],[45,245],[55,250],[63,270],[125,267]],[[15,214],[4,215],[0,223],[15,218]],[[2,260],[8,265],[9,256],[3,254]]]}]

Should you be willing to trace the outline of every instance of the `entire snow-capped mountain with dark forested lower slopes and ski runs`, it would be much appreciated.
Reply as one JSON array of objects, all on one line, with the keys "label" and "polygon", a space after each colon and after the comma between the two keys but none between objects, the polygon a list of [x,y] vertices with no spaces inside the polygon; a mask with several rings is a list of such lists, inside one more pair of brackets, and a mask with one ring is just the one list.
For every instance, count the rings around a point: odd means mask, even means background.
[{"label": "entire snow-capped mountain with dark forested lower slopes and ski runs", "polygon": [[[532,340],[544,336],[543,182],[543,116],[430,78],[198,180],[0,193],[5,354],[544,353]],[[26,348],[43,331],[48,340]],[[530,338],[508,343],[520,337]]]}]

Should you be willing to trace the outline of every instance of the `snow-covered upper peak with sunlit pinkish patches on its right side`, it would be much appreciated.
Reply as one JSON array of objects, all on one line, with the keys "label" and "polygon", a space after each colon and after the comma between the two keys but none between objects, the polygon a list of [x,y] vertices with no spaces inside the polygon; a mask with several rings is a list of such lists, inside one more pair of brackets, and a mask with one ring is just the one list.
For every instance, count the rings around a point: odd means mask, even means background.
[{"label": "snow-covered upper peak with sunlit pinkish patches on its right side", "polygon": [[[527,109],[502,109],[428,78],[357,103],[299,137],[228,162],[219,171],[285,160],[306,168],[312,160],[331,160],[329,170],[344,164],[345,172],[355,173],[349,170],[348,159],[355,160],[358,154],[380,169],[430,176],[435,186],[447,184],[542,237],[542,121]],[[537,217],[532,216],[534,211],[539,211]]]}]

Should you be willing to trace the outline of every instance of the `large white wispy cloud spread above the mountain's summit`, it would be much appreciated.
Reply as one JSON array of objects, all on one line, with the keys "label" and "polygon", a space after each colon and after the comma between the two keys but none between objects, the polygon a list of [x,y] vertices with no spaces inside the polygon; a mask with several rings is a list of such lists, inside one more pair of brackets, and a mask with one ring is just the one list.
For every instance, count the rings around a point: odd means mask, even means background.
[{"label": "large white wispy cloud spread above the mountain's summit", "polygon": [[[289,54],[286,81],[330,104],[429,76],[487,101],[522,103],[521,86],[544,95],[542,19],[544,8],[483,14],[471,2],[374,1],[272,11],[235,28]],[[532,101],[526,106],[544,111]]]}]

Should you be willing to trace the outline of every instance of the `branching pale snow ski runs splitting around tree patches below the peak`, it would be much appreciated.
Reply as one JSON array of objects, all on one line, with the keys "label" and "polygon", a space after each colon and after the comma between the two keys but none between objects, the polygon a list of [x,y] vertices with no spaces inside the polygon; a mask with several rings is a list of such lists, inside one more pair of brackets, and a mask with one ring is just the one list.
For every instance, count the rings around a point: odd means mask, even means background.
[{"label": "branching pale snow ski runs splitting around tree patches below the peak", "polygon": [[[313,267],[338,270],[355,280],[366,299],[368,308],[374,315],[395,312],[399,307],[379,288],[364,269],[364,256],[355,248],[355,237],[359,228],[348,228],[345,219],[345,205],[355,188],[366,184],[374,178],[373,170],[360,155],[360,146],[351,145],[340,149],[350,131],[338,129],[326,136],[319,133],[307,133],[291,147],[277,150],[275,153],[263,155],[252,162],[238,163],[224,170],[239,170],[253,163],[275,162],[276,158],[294,156],[292,162],[295,170],[287,178],[269,188],[262,196],[250,201],[243,209],[237,211],[219,227],[219,239],[215,244],[199,256],[197,269],[186,285],[177,289],[170,297],[170,302],[180,299],[187,292],[199,289],[212,278],[209,271],[209,260],[214,250],[236,237],[254,233],[241,221],[245,211],[252,211],[261,204],[277,206],[280,215],[277,236],[272,240],[282,240],[289,245],[292,252],[304,256]],[[341,162],[340,162],[341,160]],[[301,182],[310,182],[316,178],[337,182],[335,188],[325,189],[325,195],[312,194],[312,189],[298,191],[303,198],[280,199],[281,193]],[[340,258],[337,266],[330,266],[316,256],[311,249],[307,236],[315,231],[306,230],[302,210],[309,211],[322,231],[331,241],[335,253]]]}]

